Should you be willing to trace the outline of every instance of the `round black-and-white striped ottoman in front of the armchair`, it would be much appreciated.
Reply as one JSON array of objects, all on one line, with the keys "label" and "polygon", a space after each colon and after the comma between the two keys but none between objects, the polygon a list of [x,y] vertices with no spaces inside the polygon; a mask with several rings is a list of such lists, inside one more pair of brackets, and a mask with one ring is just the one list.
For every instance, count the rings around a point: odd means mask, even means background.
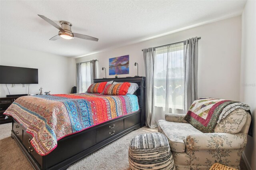
[{"label": "round black-and-white striped ottoman in front of the armchair", "polygon": [[169,142],[159,132],[136,135],[128,156],[131,170],[175,170]]}]

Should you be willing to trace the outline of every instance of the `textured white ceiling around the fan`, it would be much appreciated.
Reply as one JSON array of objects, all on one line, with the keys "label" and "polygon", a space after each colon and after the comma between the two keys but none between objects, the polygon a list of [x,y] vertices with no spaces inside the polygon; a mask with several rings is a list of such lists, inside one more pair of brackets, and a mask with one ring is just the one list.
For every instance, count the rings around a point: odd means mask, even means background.
[{"label": "textured white ceiling around the fan", "polygon": [[[1,43],[78,57],[242,13],[245,1],[0,1]],[[49,41],[58,34],[37,14],[99,39]]]}]

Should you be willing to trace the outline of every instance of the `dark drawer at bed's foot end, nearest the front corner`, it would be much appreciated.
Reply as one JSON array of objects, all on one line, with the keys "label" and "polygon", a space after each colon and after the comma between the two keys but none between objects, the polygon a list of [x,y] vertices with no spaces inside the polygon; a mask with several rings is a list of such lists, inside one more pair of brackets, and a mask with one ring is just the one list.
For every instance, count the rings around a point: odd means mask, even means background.
[{"label": "dark drawer at bed's foot end, nearest the front corner", "polygon": [[24,132],[24,134],[23,134],[23,144],[24,144],[25,148],[28,150],[28,152],[35,158],[35,160],[42,167],[42,156],[39,155],[36,152],[36,150],[34,149],[32,144],[30,143],[31,139],[32,139],[32,137],[29,134],[27,134],[26,132]]}]

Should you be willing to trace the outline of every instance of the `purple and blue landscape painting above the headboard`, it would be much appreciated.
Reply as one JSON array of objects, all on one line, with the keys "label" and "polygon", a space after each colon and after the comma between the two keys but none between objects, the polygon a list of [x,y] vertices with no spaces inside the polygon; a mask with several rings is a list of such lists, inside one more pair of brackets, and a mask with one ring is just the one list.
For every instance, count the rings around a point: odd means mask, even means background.
[{"label": "purple and blue landscape painting above the headboard", "polygon": [[109,75],[129,74],[129,55],[109,59]]}]

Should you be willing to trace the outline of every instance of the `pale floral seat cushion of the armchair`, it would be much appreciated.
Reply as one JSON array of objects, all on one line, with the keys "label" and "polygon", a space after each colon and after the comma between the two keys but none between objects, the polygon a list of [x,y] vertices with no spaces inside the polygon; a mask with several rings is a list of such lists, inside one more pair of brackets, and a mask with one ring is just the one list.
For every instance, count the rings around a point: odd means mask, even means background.
[{"label": "pale floral seat cushion of the armchair", "polygon": [[164,134],[174,152],[185,152],[185,142],[188,134],[202,133],[189,123],[175,123],[164,120],[158,121],[158,132]]}]

